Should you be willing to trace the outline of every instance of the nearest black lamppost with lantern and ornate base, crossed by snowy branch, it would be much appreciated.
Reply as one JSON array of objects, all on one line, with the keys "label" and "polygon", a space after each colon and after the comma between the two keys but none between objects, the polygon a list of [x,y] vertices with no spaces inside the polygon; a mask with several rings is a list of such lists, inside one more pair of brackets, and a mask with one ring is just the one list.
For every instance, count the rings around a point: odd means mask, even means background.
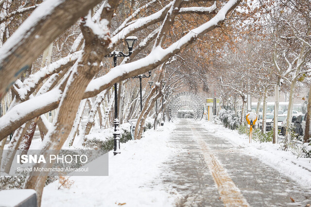
[{"label": "nearest black lamppost with lantern and ornate base, crossed by snowy branch", "polygon": [[[114,67],[117,66],[117,57],[129,57],[133,52],[133,45],[134,43],[137,41],[137,37],[135,36],[131,36],[131,37],[127,37],[125,39],[126,43],[127,43],[127,47],[129,50],[128,54],[124,54],[123,52],[120,51],[113,51],[111,52],[109,55],[106,55],[105,57],[113,57],[113,64]],[[120,150],[120,135],[121,132],[119,130],[119,119],[118,119],[118,91],[117,91],[117,83],[115,83],[114,85],[115,87],[115,120],[113,121],[113,124],[115,125],[115,131],[113,132],[113,136],[114,136],[114,148],[113,148],[113,154],[120,154],[121,150]]]}]

